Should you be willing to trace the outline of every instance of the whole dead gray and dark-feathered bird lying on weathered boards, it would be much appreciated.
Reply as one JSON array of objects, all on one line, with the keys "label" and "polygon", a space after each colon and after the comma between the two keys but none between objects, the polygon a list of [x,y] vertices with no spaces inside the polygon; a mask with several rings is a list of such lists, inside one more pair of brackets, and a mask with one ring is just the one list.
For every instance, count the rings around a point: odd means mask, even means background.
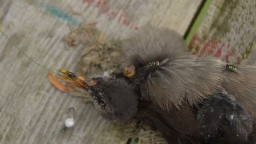
[{"label": "whole dead gray and dark-feathered bird lying on weathered boards", "polygon": [[256,67],[227,77],[224,62],[186,52],[176,32],[144,27],[123,43],[120,69],[134,66],[135,75],[81,78],[83,89],[107,119],[147,121],[170,144],[246,143],[256,114],[256,75],[249,70],[256,74]]}]

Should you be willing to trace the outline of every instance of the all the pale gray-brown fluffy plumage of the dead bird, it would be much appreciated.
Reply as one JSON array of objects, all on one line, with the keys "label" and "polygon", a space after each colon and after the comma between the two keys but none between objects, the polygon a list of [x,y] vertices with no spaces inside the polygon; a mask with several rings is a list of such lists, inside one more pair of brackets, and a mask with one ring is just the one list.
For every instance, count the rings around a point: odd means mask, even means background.
[{"label": "all the pale gray-brown fluffy plumage of the dead bird", "polygon": [[[256,116],[256,66],[239,65],[237,69],[234,65],[226,67],[226,63],[213,57],[190,55],[179,34],[149,25],[124,40],[122,48],[120,69],[134,66],[139,71],[149,62],[159,61],[158,67],[139,78],[137,75],[136,81],[141,80],[142,98],[162,109],[179,109],[183,102],[198,105],[224,88]],[[225,67],[229,70],[223,72]]]}]

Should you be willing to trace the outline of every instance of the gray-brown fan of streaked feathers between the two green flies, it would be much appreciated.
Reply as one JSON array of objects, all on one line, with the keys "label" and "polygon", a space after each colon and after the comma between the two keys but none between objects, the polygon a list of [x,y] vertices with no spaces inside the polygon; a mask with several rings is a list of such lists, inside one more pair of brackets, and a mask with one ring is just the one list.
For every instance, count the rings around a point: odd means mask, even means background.
[{"label": "gray-brown fan of streaked feathers between the two green flies", "polygon": [[199,104],[207,95],[221,90],[220,63],[215,58],[192,55],[163,61],[141,84],[141,94],[168,111],[179,109],[183,103]]}]

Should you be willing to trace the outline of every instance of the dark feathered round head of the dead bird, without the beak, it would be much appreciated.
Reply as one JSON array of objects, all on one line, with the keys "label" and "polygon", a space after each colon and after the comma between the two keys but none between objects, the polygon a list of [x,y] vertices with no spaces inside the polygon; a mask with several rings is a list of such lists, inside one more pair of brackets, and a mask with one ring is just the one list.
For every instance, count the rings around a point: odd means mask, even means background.
[{"label": "dark feathered round head of the dead bird, without the beak", "polygon": [[109,120],[131,120],[138,111],[139,96],[124,80],[93,78],[97,85],[88,87],[95,107]]}]

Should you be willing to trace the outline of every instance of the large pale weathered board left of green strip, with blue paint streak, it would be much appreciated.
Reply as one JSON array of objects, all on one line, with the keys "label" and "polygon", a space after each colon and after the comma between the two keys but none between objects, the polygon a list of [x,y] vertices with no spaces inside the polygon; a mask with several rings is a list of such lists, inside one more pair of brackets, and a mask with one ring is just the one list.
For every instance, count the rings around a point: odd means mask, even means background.
[{"label": "large pale weathered board left of green strip, with blue paint streak", "polygon": [[[98,21],[108,37],[123,39],[147,22],[176,29],[184,34],[201,0],[0,0],[0,25],[10,37],[0,35],[0,143],[1,144],[91,144],[115,143],[114,124],[101,118],[92,104],[54,88],[47,71],[12,44],[45,67],[76,67],[78,48],[65,48],[63,37],[73,25]],[[42,6],[51,6],[73,16],[54,17]],[[45,8],[45,7],[44,7]],[[48,9],[48,11],[51,11]],[[53,12],[53,11],[52,11]],[[82,16],[75,15],[82,13]],[[113,13],[112,13],[113,12]],[[72,14],[73,13],[73,14]],[[75,126],[64,133],[66,112],[76,109]],[[123,141],[125,142],[125,141]]]}]

